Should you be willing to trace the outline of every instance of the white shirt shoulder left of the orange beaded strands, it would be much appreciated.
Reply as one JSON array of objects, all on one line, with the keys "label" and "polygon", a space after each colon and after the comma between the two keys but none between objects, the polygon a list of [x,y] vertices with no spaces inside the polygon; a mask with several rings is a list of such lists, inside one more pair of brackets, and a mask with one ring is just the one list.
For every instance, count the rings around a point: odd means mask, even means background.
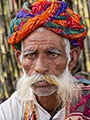
[{"label": "white shirt shoulder left of the orange beaded strands", "polygon": [[18,91],[0,105],[0,120],[22,120],[24,101],[18,97]]}]

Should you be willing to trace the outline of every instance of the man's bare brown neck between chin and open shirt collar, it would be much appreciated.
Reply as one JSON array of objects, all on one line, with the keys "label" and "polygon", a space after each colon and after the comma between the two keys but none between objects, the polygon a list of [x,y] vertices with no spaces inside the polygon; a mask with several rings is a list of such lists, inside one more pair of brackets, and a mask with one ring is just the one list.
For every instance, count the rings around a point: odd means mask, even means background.
[{"label": "man's bare brown neck between chin and open shirt collar", "polygon": [[51,115],[55,112],[56,108],[60,105],[60,98],[57,98],[57,93],[50,96],[36,96],[38,103]]}]

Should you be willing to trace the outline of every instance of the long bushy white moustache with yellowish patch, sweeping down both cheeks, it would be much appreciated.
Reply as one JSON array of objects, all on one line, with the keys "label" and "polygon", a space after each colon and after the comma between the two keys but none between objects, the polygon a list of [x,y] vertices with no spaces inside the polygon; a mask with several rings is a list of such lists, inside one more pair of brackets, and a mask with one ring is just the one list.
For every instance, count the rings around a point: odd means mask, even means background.
[{"label": "long bushy white moustache with yellowish patch, sweeping down both cheeks", "polygon": [[67,95],[69,95],[69,97],[72,97],[73,93],[76,91],[77,96],[78,91],[75,88],[77,82],[68,71],[67,66],[64,72],[59,77],[56,77],[54,75],[43,76],[40,74],[33,74],[32,76],[28,76],[24,72],[23,76],[18,80],[17,83],[17,90],[19,89],[20,97],[25,98],[30,86],[38,81],[41,81],[41,79],[46,80],[50,84],[55,84],[56,86],[58,86],[57,98],[61,98],[63,104],[65,103],[66,99],[68,99],[66,97]]}]

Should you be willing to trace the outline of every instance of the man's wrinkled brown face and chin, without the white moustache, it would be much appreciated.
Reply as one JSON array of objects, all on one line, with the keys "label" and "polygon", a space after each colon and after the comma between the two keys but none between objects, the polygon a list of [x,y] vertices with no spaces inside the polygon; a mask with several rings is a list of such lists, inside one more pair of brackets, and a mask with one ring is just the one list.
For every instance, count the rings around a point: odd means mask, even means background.
[{"label": "man's wrinkled brown face and chin, without the white moustache", "polygon": [[[67,65],[67,55],[63,38],[52,31],[35,31],[28,35],[23,42],[23,56],[21,65],[25,72],[33,74],[50,74],[58,77]],[[39,81],[31,85],[35,93],[47,95],[57,91],[57,86],[46,81]]]}]

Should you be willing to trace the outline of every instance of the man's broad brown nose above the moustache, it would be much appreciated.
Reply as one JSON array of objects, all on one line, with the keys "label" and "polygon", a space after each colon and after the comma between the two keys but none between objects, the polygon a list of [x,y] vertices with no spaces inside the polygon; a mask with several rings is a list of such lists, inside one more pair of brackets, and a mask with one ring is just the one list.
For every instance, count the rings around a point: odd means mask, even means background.
[{"label": "man's broad brown nose above the moustache", "polygon": [[45,57],[38,57],[35,64],[35,72],[45,74],[48,72],[48,63]]}]

